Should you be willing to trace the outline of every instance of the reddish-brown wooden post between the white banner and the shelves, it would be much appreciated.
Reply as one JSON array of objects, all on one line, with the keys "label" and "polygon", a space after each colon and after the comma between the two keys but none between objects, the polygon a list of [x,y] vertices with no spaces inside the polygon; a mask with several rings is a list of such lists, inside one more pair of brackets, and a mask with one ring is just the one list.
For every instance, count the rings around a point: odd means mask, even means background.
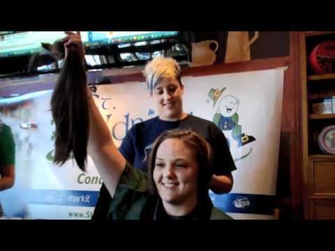
[{"label": "reddish-brown wooden post between the white banner and the shelves", "polygon": [[[287,70],[284,93],[285,104],[283,107],[283,128],[284,132],[290,133],[290,185],[291,185],[291,218],[303,218],[304,204],[302,200],[302,130],[301,130],[301,50],[300,34],[297,31],[290,31],[290,67]],[[287,113],[287,115],[285,115]],[[289,122],[289,121],[290,122]]]}]

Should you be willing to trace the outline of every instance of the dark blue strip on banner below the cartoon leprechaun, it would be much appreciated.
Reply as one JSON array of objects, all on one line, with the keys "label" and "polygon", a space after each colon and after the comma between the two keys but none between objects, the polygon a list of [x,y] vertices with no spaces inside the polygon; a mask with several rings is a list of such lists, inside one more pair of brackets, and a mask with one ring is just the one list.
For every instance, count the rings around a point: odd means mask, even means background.
[{"label": "dark blue strip on banner below the cartoon leprechaun", "polygon": [[274,195],[251,195],[229,193],[216,195],[212,192],[209,197],[214,206],[225,213],[252,213],[274,215]]}]

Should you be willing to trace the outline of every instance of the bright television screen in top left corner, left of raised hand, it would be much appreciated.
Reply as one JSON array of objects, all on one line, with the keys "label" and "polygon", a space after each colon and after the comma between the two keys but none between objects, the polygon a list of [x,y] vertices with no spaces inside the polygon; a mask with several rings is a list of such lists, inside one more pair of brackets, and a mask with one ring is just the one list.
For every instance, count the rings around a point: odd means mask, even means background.
[{"label": "bright television screen in top left corner, left of raised hand", "polygon": [[54,43],[65,36],[64,31],[0,31],[0,57],[45,52],[41,43]]}]

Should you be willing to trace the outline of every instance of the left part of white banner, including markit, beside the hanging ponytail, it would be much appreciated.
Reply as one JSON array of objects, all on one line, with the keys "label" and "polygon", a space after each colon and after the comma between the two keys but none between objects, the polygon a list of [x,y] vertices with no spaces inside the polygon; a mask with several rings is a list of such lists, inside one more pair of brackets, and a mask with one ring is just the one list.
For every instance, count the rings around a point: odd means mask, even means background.
[{"label": "left part of white banner, including markit, beside the hanging ponytail", "polygon": [[52,90],[0,100],[15,140],[15,185],[0,192],[4,218],[90,219],[94,211],[102,181],[91,158],[85,173],[72,160],[52,164],[51,96]]}]

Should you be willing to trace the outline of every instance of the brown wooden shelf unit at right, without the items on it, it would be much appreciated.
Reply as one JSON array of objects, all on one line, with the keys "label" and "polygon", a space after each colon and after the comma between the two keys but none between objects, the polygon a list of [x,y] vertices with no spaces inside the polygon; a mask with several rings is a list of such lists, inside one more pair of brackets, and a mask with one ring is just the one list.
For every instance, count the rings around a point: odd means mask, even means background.
[{"label": "brown wooden shelf unit at right, without the items on it", "polygon": [[335,155],[323,153],[318,146],[318,135],[323,128],[335,125],[335,114],[309,112],[315,98],[335,96],[335,73],[316,75],[310,71],[311,66],[308,65],[308,56],[313,48],[327,40],[335,40],[335,31],[303,32],[299,47],[303,111],[301,130],[303,134],[304,192],[302,192],[302,200],[304,201],[304,218],[308,220],[334,218],[335,212],[335,204],[328,201],[329,199],[335,201],[335,193],[329,197],[329,194],[322,190],[324,181],[325,186],[334,188],[332,178],[335,176]]}]

